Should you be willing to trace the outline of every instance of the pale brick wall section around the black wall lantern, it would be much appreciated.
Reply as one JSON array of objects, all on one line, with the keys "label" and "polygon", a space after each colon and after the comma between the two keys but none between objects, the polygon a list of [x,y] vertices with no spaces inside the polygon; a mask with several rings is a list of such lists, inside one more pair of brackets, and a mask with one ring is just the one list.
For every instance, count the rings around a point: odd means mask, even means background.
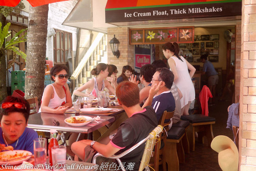
[{"label": "pale brick wall section around the black wall lantern", "polygon": [[134,45],[129,45],[129,28],[108,28],[108,42],[116,35],[119,40],[119,58],[113,55],[108,43],[108,63],[117,67],[119,76],[123,66],[130,65],[134,69]]}]

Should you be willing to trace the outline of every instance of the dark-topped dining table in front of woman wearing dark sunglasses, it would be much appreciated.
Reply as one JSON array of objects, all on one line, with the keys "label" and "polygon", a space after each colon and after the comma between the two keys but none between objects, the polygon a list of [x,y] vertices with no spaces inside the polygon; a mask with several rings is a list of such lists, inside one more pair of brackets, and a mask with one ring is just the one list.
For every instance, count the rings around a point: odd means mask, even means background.
[{"label": "dark-topped dining table in front of woman wearing dark sunglasses", "polygon": [[[112,111],[105,113],[80,112],[80,116],[100,117],[100,120],[94,120],[84,126],[71,126],[64,121],[68,117],[75,116],[74,110],[67,110],[65,114],[36,113],[29,116],[27,127],[39,132],[56,130],[59,133],[57,140],[61,139],[63,144],[66,143],[66,137],[63,133],[79,133],[77,140],[81,134],[88,134],[88,139],[100,140],[109,136],[128,118],[120,106],[110,106],[109,109],[112,109]],[[56,121],[58,122],[57,124]],[[93,133],[93,136],[91,133]]]}]

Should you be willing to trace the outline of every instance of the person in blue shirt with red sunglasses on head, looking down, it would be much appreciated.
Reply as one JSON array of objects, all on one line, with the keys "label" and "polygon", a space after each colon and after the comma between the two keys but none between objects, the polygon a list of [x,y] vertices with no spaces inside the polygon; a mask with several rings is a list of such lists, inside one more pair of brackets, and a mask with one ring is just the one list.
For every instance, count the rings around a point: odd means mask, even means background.
[{"label": "person in blue shirt with red sunglasses on head, looking down", "polygon": [[34,154],[33,140],[37,133],[28,128],[30,105],[24,98],[6,97],[1,104],[0,113],[0,152],[26,150]]}]

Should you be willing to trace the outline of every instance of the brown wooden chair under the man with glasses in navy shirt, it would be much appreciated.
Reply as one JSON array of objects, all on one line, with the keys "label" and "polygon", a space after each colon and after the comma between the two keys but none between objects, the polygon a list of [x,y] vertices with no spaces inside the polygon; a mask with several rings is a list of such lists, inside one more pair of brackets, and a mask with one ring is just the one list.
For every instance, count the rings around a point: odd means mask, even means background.
[{"label": "brown wooden chair under the man with glasses in navy shirt", "polygon": [[[163,115],[161,116],[158,124],[162,125],[166,132],[168,132],[169,128],[168,125],[170,124],[170,119],[173,118],[174,111],[173,112],[167,112],[164,111]],[[164,122],[168,120],[167,122]],[[162,134],[159,135],[160,141],[158,141],[155,145],[155,153],[154,153],[154,169],[155,171],[159,170],[159,165],[163,165],[163,171],[166,171],[166,158],[165,158],[165,151],[166,151],[166,132],[163,131]],[[161,143],[164,144],[164,146],[161,148]],[[151,164],[152,165],[152,164]]]}]

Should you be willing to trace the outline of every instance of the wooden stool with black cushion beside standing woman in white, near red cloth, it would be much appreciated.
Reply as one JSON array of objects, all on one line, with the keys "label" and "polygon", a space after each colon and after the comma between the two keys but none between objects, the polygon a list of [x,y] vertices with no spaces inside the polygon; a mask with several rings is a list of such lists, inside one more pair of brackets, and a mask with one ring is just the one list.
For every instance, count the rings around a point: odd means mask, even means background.
[{"label": "wooden stool with black cushion beside standing woman in white, near red cloth", "polygon": [[215,118],[210,116],[205,116],[201,114],[194,115],[183,115],[182,120],[188,120],[190,126],[188,129],[188,140],[190,149],[195,151],[195,132],[198,132],[198,140],[204,143],[203,136],[206,136],[208,141],[208,146],[212,139],[214,139],[214,134],[212,133],[212,124],[215,124]]}]

